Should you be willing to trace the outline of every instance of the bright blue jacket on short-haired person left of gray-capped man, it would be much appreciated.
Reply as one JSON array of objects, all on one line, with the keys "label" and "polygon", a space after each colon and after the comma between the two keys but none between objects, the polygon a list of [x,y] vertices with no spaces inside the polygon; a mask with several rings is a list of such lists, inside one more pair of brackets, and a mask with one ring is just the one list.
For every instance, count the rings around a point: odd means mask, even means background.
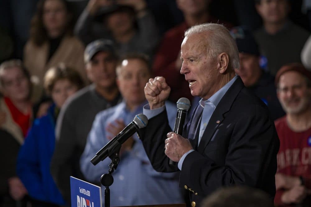
[{"label": "bright blue jacket on short-haired person left of gray-capped man", "polygon": [[55,105],[49,108],[46,116],[35,119],[20,148],[16,171],[30,197],[64,205],[65,201],[50,174],[50,162],[55,147],[54,109]]}]

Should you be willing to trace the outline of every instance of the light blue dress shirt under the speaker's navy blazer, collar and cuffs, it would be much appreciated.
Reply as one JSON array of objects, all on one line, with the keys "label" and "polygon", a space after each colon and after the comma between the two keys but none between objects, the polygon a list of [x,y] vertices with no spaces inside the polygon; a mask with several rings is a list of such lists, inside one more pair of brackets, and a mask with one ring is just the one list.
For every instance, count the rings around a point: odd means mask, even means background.
[{"label": "light blue dress shirt under the speaker's navy blazer, collar and cuffs", "polygon": [[[200,144],[200,141],[202,139],[202,135],[203,132],[206,129],[206,126],[213,114],[213,112],[215,111],[218,103],[220,102],[220,100],[222,99],[222,97],[225,95],[225,93],[228,91],[228,89],[230,88],[230,86],[234,83],[234,81],[238,78],[238,76],[234,76],[233,79],[231,79],[226,85],[224,85],[220,90],[218,90],[215,94],[213,94],[209,99],[207,99],[206,101],[204,101],[203,99],[200,100],[199,104],[201,107],[203,107],[203,112],[202,112],[202,119],[201,119],[201,124],[200,124],[200,132],[199,132],[199,140],[198,140],[198,144]],[[144,106],[144,114],[148,117],[148,119],[156,116],[157,114],[161,113],[162,111],[164,111],[165,106],[157,108],[155,110],[151,110],[148,108],[149,105],[145,105]],[[189,150],[188,152],[186,152],[185,154],[183,154],[183,156],[181,157],[181,159],[178,162],[178,168],[179,170],[181,170],[182,166],[183,166],[183,161],[185,160],[186,156],[193,152],[194,150]]]}]

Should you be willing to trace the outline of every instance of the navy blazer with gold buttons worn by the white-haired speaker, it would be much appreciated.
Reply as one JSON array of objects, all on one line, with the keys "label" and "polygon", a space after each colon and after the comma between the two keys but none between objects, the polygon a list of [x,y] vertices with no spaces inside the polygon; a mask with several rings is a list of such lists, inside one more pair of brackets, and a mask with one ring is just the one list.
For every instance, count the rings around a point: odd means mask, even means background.
[{"label": "navy blazer with gold buttons worn by the white-haired speaker", "polygon": [[[195,151],[183,162],[179,187],[189,191],[190,200],[199,206],[222,186],[256,187],[273,199],[279,139],[267,106],[238,77],[217,105],[197,146],[201,108],[197,106],[184,127],[183,137]],[[166,111],[138,131],[153,168],[160,172],[179,170],[177,164],[169,165],[164,153],[170,131]]]}]

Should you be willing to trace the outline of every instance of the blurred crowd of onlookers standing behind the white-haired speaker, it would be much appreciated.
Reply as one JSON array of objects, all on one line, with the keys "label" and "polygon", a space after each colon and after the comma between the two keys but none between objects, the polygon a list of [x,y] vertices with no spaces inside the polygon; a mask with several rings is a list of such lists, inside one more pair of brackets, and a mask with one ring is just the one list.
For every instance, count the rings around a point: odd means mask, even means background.
[{"label": "blurred crowd of onlookers standing behind the white-haired speaker", "polygon": [[[70,206],[70,176],[100,185],[110,160],[90,159],[142,113],[151,77],[171,87],[174,127],[176,101],[200,101],[180,46],[203,23],[230,30],[235,72],[275,120],[274,205],[311,206],[310,0],[2,0],[0,12],[0,207]],[[120,159],[111,206],[188,202],[179,174],[156,172],[136,134]],[[204,205],[268,206],[265,196],[220,189]]]}]

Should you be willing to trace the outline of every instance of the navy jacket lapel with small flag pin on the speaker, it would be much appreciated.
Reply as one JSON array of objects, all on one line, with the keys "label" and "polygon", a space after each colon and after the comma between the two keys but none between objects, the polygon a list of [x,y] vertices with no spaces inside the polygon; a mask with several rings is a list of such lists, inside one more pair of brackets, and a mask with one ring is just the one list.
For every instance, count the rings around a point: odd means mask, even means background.
[{"label": "navy jacket lapel with small flag pin on the speaker", "polygon": [[223,121],[225,113],[230,110],[234,99],[243,87],[244,83],[242,82],[241,78],[238,77],[238,79],[234,81],[234,83],[222,97],[214,113],[212,114],[205,131],[203,132],[202,139],[198,146],[198,152],[202,153],[204,151],[205,147],[210,142],[213,134],[215,133],[217,127]]}]

